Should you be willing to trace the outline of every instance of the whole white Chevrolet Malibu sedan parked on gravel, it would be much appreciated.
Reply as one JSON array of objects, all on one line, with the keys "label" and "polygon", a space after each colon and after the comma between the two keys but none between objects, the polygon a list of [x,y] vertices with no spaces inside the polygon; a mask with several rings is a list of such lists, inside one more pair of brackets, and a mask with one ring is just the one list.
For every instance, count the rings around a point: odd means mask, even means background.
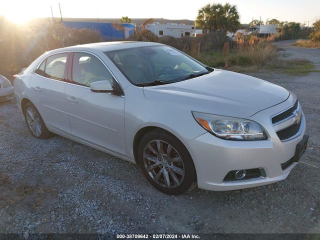
[{"label": "whole white Chevrolet Malibu sedan parked on gravel", "polygon": [[282,180],[308,140],[288,90],[153,42],[46,52],[14,92],[34,137],[53,132],[134,162],[167,194]]}]

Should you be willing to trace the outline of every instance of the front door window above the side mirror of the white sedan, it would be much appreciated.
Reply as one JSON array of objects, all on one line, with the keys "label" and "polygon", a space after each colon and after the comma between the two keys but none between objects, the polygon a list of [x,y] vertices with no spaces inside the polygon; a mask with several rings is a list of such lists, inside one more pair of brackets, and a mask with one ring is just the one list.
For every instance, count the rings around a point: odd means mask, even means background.
[{"label": "front door window above the side mirror of the white sedan", "polygon": [[108,80],[113,85],[113,76],[95,56],[74,52],[72,62],[72,82],[90,86],[92,82]]}]

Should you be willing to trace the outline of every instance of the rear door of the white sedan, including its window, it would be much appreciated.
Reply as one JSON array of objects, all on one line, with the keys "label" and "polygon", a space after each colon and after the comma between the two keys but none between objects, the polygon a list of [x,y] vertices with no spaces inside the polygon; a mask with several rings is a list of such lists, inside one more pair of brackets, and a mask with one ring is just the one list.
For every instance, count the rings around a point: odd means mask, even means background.
[{"label": "rear door of the white sedan, including its window", "polygon": [[65,94],[68,54],[63,52],[48,56],[30,79],[32,102],[49,130],[71,131],[65,112],[68,102]]}]

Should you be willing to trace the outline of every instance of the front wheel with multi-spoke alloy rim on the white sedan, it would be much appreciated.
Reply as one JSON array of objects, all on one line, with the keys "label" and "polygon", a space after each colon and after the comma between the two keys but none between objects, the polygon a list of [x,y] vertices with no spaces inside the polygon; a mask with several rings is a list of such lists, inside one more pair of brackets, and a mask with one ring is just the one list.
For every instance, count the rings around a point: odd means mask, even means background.
[{"label": "front wheel with multi-spoke alloy rim on the white sedan", "polygon": [[161,129],[147,132],[140,140],[138,164],[147,180],[158,190],[179,195],[196,181],[192,158],[183,143]]}]

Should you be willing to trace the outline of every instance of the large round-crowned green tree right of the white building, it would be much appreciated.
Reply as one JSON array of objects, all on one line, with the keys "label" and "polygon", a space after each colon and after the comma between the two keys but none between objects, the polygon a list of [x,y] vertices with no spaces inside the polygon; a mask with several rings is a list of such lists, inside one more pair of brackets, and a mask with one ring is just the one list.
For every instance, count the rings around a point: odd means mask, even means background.
[{"label": "large round-crowned green tree right of the white building", "polygon": [[240,26],[236,5],[206,4],[198,10],[195,26],[206,31],[235,31]]}]

